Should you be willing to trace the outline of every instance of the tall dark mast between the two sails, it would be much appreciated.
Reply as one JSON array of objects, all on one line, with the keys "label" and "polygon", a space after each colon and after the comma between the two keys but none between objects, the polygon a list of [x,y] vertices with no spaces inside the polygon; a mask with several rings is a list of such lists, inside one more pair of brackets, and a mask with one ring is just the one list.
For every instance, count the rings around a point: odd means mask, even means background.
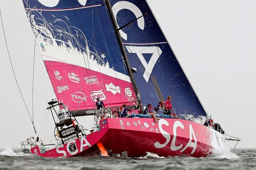
[{"label": "tall dark mast between the two sails", "polygon": [[122,55],[123,55],[123,58],[125,60],[125,63],[126,63],[126,67],[128,69],[128,73],[129,73],[129,76],[130,76],[130,79],[131,79],[131,83],[133,85],[133,89],[137,95],[137,102],[138,102],[138,105],[139,105],[139,108],[141,109],[141,111],[143,111],[143,104],[142,104],[142,101],[140,99],[140,92],[137,88],[137,85],[135,83],[135,79],[134,79],[134,76],[133,76],[133,73],[132,73],[132,70],[131,70],[131,67],[130,67],[130,63],[128,61],[128,57],[126,55],[126,51],[125,51],[125,48],[123,46],[123,41],[121,39],[121,36],[120,36],[120,33],[119,33],[119,30],[121,30],[121,28],[118,28],[117,24],[116,24],[116,19],[114,17],[114,14],[113,14],[113,11],[112,11],[112,8],[111,8],[111,5],[109,3],[109,0],[105,0],[106,2],[106,5],[107,5],[107,9],[109,11],[109,15],[110,15],[110,18],[111,18],[111,21],[113,23],[113,26],[114,26],[114,29],[115,29],[115,32],[116,32],[116,37],[117,37],[117,40],[118,40],[118,43],[119,43],[119,46],[121,48],[121,52],[122,52]]}]

